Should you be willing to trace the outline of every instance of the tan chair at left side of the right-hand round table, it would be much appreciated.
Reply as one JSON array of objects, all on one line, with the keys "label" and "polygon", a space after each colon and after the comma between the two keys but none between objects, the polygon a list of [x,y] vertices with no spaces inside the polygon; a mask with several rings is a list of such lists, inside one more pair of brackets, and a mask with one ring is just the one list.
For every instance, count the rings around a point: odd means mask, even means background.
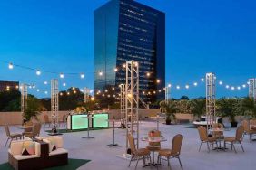
[{"label": "tan chair at left side of the right-hand round table", "polygon": [[200,137],[200,140],[201,140],[201,144],[200,144],[200,147],[199,147],[198,151],[200,152],[202,144],[206,143],[207,148],[208,148],[208,153],[209,153],[210,152],[210,145],[212,145],[212,147],[213,147],[213,145],[216,144],[216,146],[217,146],[216,138],[215,137],[208,137],[206,127],[200,126],[200,127],[197,127],[197,129],[198,129],[199,137]]}]

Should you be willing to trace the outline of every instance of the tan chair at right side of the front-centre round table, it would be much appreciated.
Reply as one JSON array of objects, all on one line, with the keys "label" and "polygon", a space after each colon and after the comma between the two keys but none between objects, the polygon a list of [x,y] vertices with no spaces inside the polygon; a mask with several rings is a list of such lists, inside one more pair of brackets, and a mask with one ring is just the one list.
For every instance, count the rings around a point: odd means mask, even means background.
[{"label": "tan chair at right side of the front-centre round table", "polygon": [[181,134],[178,134],[172,139],[172,149],[160,149],[158,151],[159,154],[157,158],[158,164],[161,163],[162,156],[164,156],[167,158],[168,166],[170,166],[170,158],[177,158],[182,167],[182,162],[180,159],[182,140],[183,140],[183,136]]}]

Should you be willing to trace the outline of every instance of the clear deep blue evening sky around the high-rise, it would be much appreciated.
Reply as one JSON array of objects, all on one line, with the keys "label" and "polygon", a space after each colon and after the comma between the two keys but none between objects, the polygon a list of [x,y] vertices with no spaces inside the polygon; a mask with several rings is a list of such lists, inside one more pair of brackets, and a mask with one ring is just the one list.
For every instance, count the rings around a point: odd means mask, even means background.
[{"label": "clear deep blue evening sky around the high-rise", "polygon": [[[107,0],[0,1],[0,80],[34,83],[38,97],[48,97],[44,80],[58,75],[42,71],[84,72],[85,78],[65,76],[67,87],[94,87],[94,9]],[[205,96],[200,79],[213,71],[224,84],[237,86],[256,77],[256,2],[254,0],[138,0],[166,14],[166,82],[172,97]],[[194,81],[198,87],[192,87]],[[184,86],[190,85],[189,90]],[[61,86],[61,90],[65,88]],[[217,96],[246,96],[248,89],[226,90]]]}]

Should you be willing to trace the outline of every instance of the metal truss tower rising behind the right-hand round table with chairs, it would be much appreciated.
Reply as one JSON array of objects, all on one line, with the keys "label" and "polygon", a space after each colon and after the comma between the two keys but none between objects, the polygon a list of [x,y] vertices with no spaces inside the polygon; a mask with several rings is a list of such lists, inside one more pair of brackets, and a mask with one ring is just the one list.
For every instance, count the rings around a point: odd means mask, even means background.
[{"label": "metal truss tower rising behind the right-hand round table with chairs", "polygon": [[206,122],[207,129],[212,128],[213,122],[216,121],[215,106],[216,106],[216,77],[214,73],[206,73]]}]

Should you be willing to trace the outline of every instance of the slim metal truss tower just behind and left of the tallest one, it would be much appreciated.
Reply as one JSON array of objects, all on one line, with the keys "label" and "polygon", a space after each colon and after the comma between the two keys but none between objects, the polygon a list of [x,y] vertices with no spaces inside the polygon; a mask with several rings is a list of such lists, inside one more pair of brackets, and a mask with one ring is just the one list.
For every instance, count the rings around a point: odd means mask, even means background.
[{"label": "slim metal truss tower just behind and left of the tallest one", "polygon": [[125,128],[125,84],[120,84],[120,114],[121,114],[121,127]]}]

